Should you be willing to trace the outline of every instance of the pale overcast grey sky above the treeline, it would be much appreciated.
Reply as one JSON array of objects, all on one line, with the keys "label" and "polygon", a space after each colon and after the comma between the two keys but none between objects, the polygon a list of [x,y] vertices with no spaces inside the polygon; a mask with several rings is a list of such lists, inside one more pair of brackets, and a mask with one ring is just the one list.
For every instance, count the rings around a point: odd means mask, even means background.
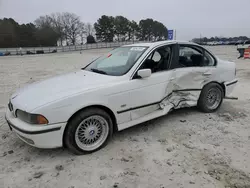
[{"label": "pale overcast grey sky above the treeline", "polygon": [[94,23],[103,14],[139,22],[153,18],[176,29],[178,40],[250,37],[250,0],[0,0],[0,18],[33,22],[42,15],[72,12]]}]

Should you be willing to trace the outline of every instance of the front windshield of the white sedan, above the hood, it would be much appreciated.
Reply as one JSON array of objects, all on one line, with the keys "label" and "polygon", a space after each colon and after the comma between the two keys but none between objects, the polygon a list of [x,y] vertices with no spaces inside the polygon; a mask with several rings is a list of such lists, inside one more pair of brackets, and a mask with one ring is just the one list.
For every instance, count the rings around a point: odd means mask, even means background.
[{"label": "front windshield of the white sedan, above the hood", "polygon": [[119,47],[93,61],[84,70],[112,76],[126,74],[147,47]]}]

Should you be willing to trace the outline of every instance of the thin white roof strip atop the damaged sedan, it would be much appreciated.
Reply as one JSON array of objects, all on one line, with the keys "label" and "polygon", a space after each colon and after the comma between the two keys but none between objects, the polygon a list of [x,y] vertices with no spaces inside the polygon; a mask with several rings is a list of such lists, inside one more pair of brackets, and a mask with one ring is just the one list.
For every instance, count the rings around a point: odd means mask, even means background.
[{"label": "thin white roof strip atop the damaged sedan", "polygon": [[192,45],[197,45],[196,43],[193,42],[188,42],[188,41],[180,41],[180,40],[165,40],[165,41],[158,41],[158,42],[139,42],[139,43],[135,43],[135,44],[129,44],[129,45],[124,45],[124,46],[145,46],[145,47],[156,47],[159,45],[168,45],[168,44],[192,44]]}]

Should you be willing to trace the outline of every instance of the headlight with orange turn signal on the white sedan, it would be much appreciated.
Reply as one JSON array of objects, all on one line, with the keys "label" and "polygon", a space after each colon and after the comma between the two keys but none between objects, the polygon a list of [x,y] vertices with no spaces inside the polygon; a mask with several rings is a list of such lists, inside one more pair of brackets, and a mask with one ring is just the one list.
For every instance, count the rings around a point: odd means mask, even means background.
[{"label": "headlight with orange turn signal on the white sedan", "polygon": [[22,110],[17,110],[16,111],[16,116],[19,119],[21,119],[22,121],[25,121],[25,122],[30,123],[30,124],[42,125],[42,124],[48,124],[49,123],[49,121],[43,115],[30,114],[30,113],[24,112]]}]

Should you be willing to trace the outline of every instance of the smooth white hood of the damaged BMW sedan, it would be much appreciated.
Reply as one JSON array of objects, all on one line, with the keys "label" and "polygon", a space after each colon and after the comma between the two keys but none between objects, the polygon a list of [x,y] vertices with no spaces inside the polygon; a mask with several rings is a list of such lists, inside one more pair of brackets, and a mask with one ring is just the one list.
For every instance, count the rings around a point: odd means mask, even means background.
[{"label": "smooth white hood of the damaged BMW sedan", "polygon": [[31,112],[64,97],[114,83],[115,79],[115,76],[81,70],[29,84],[13,94],[11,101],[17,109]]}]

